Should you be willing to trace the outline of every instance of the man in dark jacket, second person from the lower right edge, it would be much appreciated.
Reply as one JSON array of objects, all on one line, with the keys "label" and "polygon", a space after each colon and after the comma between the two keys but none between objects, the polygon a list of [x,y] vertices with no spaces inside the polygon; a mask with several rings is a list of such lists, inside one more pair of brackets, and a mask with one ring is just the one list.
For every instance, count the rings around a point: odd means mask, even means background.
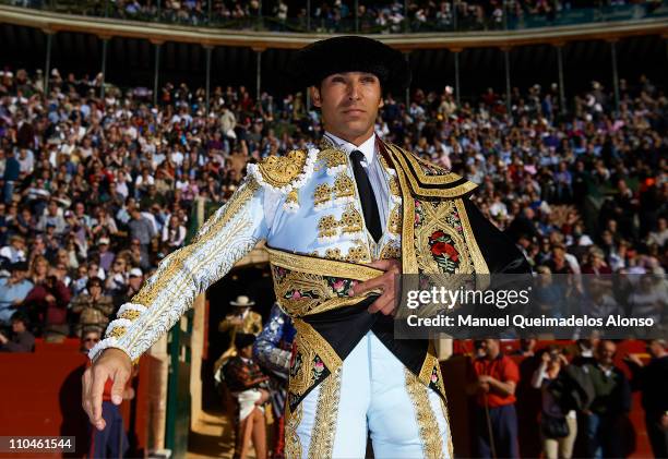
[{"label": "man in dark jacket, second person from the lower right edge", "polygon": [[601,340],[596,349],[596,363],[584,366],[594,386],[594,400],[584,412],[592,458],[625,456],[621,421],[631,409],[631,387],[624,373],[615,366],[616,351],[613,341]]}]

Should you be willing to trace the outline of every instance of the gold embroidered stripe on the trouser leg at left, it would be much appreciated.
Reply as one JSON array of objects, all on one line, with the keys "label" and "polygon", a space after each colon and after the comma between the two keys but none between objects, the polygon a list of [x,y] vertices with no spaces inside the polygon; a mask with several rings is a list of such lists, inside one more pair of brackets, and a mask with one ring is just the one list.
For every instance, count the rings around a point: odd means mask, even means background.
[{"label": "gold embroidered stripe on the trouser leg at left", "polygon": [[338,416],[338,399],[341,395],[341,373],[336,370],[320,385],[315,423],[311,431],[309,458],[331,458],[336,436],[336,420]]}]

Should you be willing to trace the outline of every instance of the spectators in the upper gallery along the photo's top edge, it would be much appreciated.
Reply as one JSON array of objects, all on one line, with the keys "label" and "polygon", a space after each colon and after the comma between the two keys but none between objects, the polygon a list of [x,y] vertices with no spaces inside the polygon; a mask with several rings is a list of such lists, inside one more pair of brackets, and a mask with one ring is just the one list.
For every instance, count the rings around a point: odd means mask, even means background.
[{"label": "spectators in the upper gallery along the photo's top edge", "polygon": [[[210,4],[211,1],[211,4]],[[21,5],[52,4],[40,0],[14,0]],[[606,11],[633,5],[634,16],[652,12],[661,0],[392,0],[379,2],[330,0],[115,0],[76,2],[62,1],[72,12],[107,15],[139,21],[164,21],[194,26],[216,25],[230,28],[269,27],[293,32],[360,32],[402,33],[429,31],[502,29],[547,25],[573,10],[598,11],[588,20],[601,20]],[[68,10],[69,11],[69,10]],[[357,14],[356,14],[357,13]],[[310,14],[310,17],[309,17]],[[582,21],[581,15],[574,20]],[[264,20],[260,25],[259,19]],[[356,24],[357,23],[357,24]]]}]

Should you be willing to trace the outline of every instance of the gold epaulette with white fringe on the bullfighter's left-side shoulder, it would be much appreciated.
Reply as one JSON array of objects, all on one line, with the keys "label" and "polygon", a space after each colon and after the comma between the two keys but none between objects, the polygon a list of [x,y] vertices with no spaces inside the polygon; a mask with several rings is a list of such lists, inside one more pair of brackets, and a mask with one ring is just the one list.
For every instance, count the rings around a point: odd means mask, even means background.
[{"label": "gold epaulette with white fringe on the bullfighter's left-side shoulder", "polygon": [[263,188],[286,195],[284,208],[296,212],[299,208],[297,190],[313,174],[317,149],[294,149],[285,156],[267,156],[257,165],[248,165],[248,173]]}]

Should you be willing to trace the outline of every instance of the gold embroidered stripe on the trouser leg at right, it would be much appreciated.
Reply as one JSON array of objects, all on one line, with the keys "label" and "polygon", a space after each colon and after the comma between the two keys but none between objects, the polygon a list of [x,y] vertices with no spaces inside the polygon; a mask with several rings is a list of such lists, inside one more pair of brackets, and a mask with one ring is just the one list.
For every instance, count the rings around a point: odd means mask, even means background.
[{"label": "gold embroidered stripe on the trouser leg at right", "polygon": [[418,378],[404,369],[406,376],[406,391],[415,407],[415,416],[420,432],[424,457],[428,459],[443,458],[443,444],[441,443],[439,423],[429,403],[429,388]]}]

